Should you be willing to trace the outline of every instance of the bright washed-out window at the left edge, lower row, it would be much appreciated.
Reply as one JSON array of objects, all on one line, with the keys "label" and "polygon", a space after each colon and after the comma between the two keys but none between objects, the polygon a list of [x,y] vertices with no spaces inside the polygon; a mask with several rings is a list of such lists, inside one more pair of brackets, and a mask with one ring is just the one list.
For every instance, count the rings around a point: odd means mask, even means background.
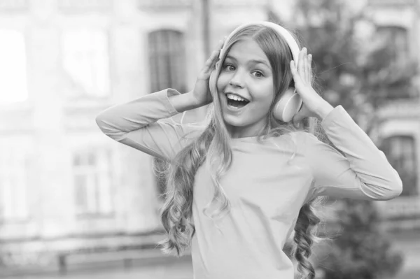
[{"label": "bright washed-out window at the left edge, lower row", "polygon": [[[6,148],[8,146],[8,148]],[[28,217],[28,155],[20,148],[1,143],[0,220],[22,221]]]}]

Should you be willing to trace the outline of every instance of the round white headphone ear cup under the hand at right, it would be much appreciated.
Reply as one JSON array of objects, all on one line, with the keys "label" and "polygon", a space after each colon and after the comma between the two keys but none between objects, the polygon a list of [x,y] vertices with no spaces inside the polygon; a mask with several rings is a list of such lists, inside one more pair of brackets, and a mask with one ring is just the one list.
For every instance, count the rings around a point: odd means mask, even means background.
[{"label": "round white headphone ear cup under the hand at right", "polygon": [[302,99],[295,88],[288,87],[288,90],[283,93],[274,106],[274,117],[283,122],[290,122],[302,107],[302,103]]}]

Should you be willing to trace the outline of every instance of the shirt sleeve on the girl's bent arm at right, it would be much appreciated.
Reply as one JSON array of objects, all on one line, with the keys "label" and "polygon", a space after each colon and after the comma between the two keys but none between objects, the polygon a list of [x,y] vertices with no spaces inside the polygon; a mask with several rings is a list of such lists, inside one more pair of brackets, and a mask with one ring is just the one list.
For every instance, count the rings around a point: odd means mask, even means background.
[{"label": "shirt sleeve on the girl's bent arm at right", "polygon": [[397,171],[342,106],[335,107],[321,125],[345,156],[304,133],[304,153],[314,177],[307,200],[316,196],[388,200],[401,194]]}]

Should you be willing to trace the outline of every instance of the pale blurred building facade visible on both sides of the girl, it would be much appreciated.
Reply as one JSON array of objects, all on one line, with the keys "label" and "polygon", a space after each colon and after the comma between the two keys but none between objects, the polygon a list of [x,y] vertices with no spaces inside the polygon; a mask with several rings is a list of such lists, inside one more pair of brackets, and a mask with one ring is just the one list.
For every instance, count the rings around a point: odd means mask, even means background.
[{"label": "pale blurred building facade visible on both sides of the girl", "polygon": [[[0,0],[1,261],[46,264],[61,250],[141,245],[160,229],[152,158],[104,136],[95,116],[167,87],[192,90],[217,41],[241,22],[267,20],[274,2]],[[286,2],[272,8],[287,21]],[[372,1],[375,19],[418,59],[416,3],[391,2]],[[407,96],[381,110],[387,156],[415,176],[401,197],[378,203],[389,229],[420,227],[419,114]]]}]

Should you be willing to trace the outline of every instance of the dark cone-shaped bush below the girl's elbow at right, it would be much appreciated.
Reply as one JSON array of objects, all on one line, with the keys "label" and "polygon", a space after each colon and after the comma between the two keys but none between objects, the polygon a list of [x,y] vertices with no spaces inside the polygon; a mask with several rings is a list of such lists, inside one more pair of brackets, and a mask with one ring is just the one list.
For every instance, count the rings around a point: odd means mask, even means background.
[{"label": "dark cone-shaped bush below the girl's elbow at right", "polygon": [[328,257],[318,263],[324,279],[374,279],[394,276],[402,257],[379,230],[379,216],[370,201],[345,199],[337,210],[342,231]]}]

